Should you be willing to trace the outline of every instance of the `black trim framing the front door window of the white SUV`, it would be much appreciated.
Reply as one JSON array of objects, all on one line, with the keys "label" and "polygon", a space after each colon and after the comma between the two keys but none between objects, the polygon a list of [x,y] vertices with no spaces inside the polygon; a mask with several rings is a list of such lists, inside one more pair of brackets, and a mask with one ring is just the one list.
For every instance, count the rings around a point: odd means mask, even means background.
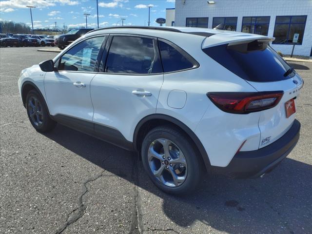
[{"label": "black trim framing the front door window of the white SUV", "polygon": [[[59,54],[55,60],[54,60],[54,64],[57,64],[59,63],[60,59],[63,57],[64,54],[66,54],[70,49],[72,49],[74,46],[82,43],[83,41],[87,40],[87,39],[92,39],[92,38],[99,38],[99,37],[104,37],[103,41],[102,41],[102,45],[98,51],[98,57],[97,57],[97,60],[96,60],[96,65],[94,67],[94,71],[91,72],[91,71],[67,71],[67,70],[59,70],[58,72],[69,72],[69,73],[90,73],[90,74],[97,74],[98,73],[98,69],[99,69],[99,59],[102,57],[103,55],[103,51],[104,51],[104,47],[105,47],[105,44],[108,40],[108,36],[109,34],[98,34],[98,35],[94,35],[92,37],[88,37],[88,38],[85,38],[85,39],[82,39],[82,40],[79,40],[77,41],[75,44],[71,45],[70,47],[68,47],[69,49],[63,51],[63,53]],[[59,66],[59,65],[58,65]],[[58,68],[57,66],[57,68]]]}]

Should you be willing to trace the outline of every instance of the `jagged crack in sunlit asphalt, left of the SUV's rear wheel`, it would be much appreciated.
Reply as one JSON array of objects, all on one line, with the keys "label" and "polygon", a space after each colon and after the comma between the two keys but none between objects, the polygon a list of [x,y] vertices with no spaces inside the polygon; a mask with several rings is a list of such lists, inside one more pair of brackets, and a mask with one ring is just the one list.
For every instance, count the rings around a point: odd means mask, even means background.
[{"label": "jagged crack in sunlit asphalt, left of the SUV's rear wheel", "polygon": [[[93,182],[93,181],[97,180],[99,177],[103,176],[104,172],[105,172],[105,170],[103,170],[97,176],[92,176],[92,177],[88,178],[85,182],[83,182],[82,194],[80,195],[80,197],[78,199],[78,208],[76,208],[75,210],[73,210],[71,213],[69,213],[67,215],[66,223],[62,227],[59,228],[59,230],[56,232],[56,234],[61,234],[69,225],[77,222],[78,219],[81,218],[85,214],[87,206],[85,205],[86,200],[84,197],[89,192],[87,184],[90,182]],[[69,218],[76,211],[78,211],[78,213],[76,215],[74,215],[73,217]]]}]

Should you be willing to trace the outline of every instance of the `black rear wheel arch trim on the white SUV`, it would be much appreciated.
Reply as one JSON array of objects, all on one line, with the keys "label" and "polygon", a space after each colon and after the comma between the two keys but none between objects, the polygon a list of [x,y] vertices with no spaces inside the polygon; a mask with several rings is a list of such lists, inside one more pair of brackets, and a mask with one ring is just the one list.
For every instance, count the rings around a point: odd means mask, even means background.
[{"label": "black rear wheel arch trim on the white SUV", "polygon": [[209,160],[208,154],[204,146],[202,145],[198,137],[183,122],[171,116],[167,116],[163,114],[152,114],[152,115],[142,118],[137,124],[137,127],[134,132],[134,137],[133,137],[133,145],[136,151],[138,152],[140,151],[144,136],[146,136],[146,134],[151,129],[159,125],[175,126],[179,130],[184,132],[192,141],[193,145],[198,151],[197,153],[200,154],[201,158],[204,161],[206,170],[208,170],[208,168],[211,166],[210,160]]}]

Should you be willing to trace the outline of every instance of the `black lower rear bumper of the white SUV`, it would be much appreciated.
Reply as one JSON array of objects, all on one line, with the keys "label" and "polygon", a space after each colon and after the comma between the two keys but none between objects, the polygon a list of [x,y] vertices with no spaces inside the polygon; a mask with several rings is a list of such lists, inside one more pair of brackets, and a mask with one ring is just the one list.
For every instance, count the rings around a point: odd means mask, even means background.
[{"label": "black lower rear bumper of the white SUV", "polygon": [[283,137],[261,149],[237,153],[221,172],[234,178],[256,178],[271,172],[295,147],[299,132],[300,122],[295,119]]}]

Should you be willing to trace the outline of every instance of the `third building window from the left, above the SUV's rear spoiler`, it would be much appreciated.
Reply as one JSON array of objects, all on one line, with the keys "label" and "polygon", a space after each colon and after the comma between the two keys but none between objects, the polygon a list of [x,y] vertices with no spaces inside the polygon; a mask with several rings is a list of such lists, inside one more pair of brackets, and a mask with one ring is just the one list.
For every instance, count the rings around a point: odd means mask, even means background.
[{"label": "third building window from the left, above the SUV's rear spoiler", "polygon": [[270,16],[243,17],[242,32],[268,36]]}]

